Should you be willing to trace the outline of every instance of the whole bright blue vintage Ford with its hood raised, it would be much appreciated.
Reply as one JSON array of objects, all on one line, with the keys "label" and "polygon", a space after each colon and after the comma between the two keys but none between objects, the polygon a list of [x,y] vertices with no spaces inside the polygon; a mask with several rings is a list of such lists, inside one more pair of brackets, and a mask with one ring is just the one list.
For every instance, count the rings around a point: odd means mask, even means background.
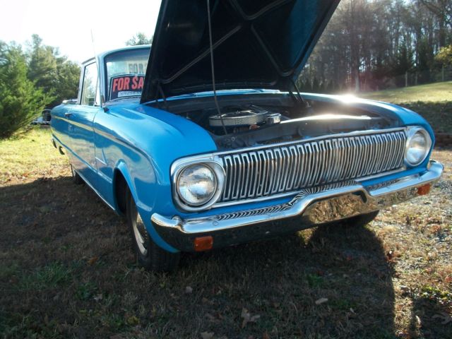
[{"label": "whole bright blue vintage Ford with its hood raised", "polygon": [[[52,110],[76,182],[125,215],[138,261],[345,220],[427,194],[443,166],[418,114],[299,93],[335,0],[163,0],[149,46],[85,61]],[[275,222],[285,220],[285,222]]]}]

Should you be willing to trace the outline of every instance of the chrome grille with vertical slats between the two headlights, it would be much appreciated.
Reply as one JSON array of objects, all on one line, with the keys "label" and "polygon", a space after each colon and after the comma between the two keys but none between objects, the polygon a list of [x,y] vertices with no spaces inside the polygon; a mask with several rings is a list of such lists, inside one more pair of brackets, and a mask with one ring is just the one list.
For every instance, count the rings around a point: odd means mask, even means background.
[{"label": "chrome grille with vertical slats between the two headlights", "polygon": [[311,139],[220,153],[226,172],[218,203],[285,194],[403,167],[403,129]]}]

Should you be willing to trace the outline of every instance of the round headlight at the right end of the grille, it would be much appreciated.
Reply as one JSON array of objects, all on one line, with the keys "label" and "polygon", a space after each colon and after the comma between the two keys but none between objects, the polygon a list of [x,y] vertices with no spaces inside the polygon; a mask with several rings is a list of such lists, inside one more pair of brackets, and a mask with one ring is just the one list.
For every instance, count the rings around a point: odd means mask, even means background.
[{"label": "round headlight at the right end of the grille", "polygon": [[408,130],[408,138],[405,147],[405,162],[410,166],[417,166],[425,160],[432,147],[432,139],[429,133],[420,127],[412,127]]}]

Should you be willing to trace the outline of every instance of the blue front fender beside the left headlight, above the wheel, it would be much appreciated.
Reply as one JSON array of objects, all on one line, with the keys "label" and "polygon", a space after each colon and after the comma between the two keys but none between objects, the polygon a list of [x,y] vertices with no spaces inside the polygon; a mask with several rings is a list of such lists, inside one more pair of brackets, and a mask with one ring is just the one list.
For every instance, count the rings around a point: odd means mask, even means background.
[{"label": "blue front fender beside the left headlight, above the wheel", "polygon": [[[170,167],[179,157],[215,151],[216,145],[200,126],[174,114],[144,105],[116,105],[95,118],[96,156],[106,165],[109,192],[115,194],[121,173],[143,222],[155,243],[176,251],[155,232],[152,213],[174,215]],[[117,197],[113,198],[118,207]]]}]

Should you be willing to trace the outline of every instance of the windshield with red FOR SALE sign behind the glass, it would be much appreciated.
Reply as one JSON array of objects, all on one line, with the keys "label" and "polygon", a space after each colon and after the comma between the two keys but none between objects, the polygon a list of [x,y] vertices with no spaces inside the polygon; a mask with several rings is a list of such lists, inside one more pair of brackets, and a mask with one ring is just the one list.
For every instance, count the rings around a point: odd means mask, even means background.
[{"label": "windshield with red FOR SALE sign behind the glass", "polygon": [[105,57],[107,100],[141,95],[150,47],[128,49]]}]

